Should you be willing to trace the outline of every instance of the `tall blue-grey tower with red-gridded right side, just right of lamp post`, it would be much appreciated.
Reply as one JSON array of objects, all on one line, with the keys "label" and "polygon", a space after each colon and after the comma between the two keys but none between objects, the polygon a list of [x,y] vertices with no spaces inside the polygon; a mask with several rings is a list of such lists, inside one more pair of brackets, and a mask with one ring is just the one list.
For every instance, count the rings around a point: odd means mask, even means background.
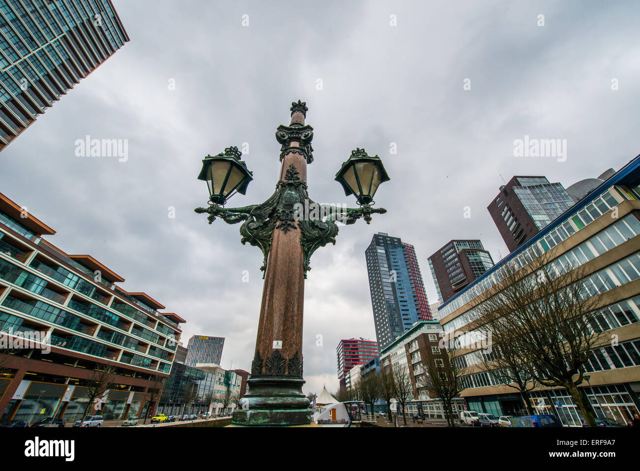
[{"label": "tall blue-grey tower with red-gridded right side, just right of lamp post", "polygon": [[365,256],[376,338],[384,348],[413,323],[432,320],[429,301],[411,244],[379,232]]}]

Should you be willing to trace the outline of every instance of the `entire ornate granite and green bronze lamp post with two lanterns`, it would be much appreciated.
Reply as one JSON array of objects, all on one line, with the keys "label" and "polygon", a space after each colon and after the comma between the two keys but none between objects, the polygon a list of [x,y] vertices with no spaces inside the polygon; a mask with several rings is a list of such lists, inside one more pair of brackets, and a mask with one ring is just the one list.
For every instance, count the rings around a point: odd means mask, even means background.
[{"label": "entire ornate granite and green bronze lamp post with two lanterns", "polygon": [[234,193],[244,195],[252,173],[240,160],[237,147],[218,156],[207,156],[198,179],[209,187],[209,207],[195,212],[209,214],[226,223],[242,222],[243,244],[262,250],[264,288],[262,307],[251,365],[249,392],[240,401],[241,410],[232,423],[244,426],[289,426],[309,424],[309,401],[302,393],[302,319],[305,278],[309,259],[317,248],[335,244],[336,221],[353,224],[371,214],[387,212],[373,208],[380,183],[389,180],[380,157],[364,149],[351,152],[336,180],[346,195],[355,195],[359,208],[317,205],[307,193],[307,164],[312,163],[313,128],[305,125],[308,108],[298,100],[291,106],[291,124],[280,125],[276,139],[282,145],[280,178],[275,193],[266,202],[240,208],[223,205]]}]

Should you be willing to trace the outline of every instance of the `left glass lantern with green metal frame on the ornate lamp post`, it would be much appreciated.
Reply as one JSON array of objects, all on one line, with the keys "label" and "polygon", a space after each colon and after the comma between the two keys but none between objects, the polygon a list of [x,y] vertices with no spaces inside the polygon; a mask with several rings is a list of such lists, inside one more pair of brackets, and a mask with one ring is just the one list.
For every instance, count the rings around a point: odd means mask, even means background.
[{"label": "left glass lantern with green metal frame on the ornate lamp post", "polygon": [[207,156],[202,161],[198,180],[207,182],[211,202],[223,205],[235,193],[244,195],[253,177],[239,158],[220,154],[214,157]]}]

